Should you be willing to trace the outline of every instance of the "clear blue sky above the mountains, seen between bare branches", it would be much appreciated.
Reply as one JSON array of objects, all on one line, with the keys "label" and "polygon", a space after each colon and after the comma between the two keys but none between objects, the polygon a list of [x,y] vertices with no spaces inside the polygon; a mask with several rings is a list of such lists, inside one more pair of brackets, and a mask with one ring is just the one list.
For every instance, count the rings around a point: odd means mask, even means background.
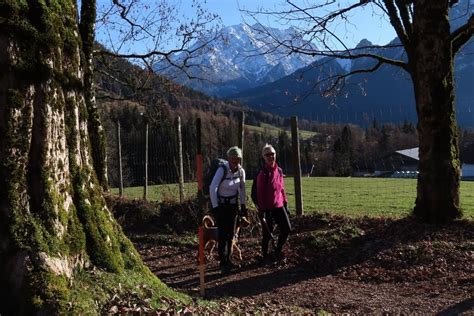
[{"label": "clear blue sky above the mountains, seen between bare branches", "polygon": [[[123,3],[128,3],[131,0],[124,0]],[[177,4],[178,5],[178,12],[176,15],[178,18],[188,18],[193,19],[193,14],[195,14],[195,9],[191,8],[192,0],[142,0],[135,3],[141,3],[142,5],[150,5],[153,6],[153,3],[156,4],[160,1],[165,1],[168,4]],[[207,9],[211,13],[218,14],[224,26],[235,25],[243,22],[247,22],[250,24],[254,24],[255,20],[251,17],[245,15],[239,9],[247,9],[247,10],[258,10],[268,9],[273,11],[279,11],[283,8],[284,0],[199,0],[200,3],[203,5],[205,9]],[[297,4],[307,4],[307,3],[315,3],[317,1],[313,0],[293,0]],[[321,0],[320,2],[324,2],[325,0]],[[338,0],[335,1],[334,6],[340,5],[341,7],[346,6],[348,3],[359,2],[359,0]],[[101,6],[110,6],[111,0],[98,0],[99,8]],[[100,12],[100,10],[99,10]],[[325,12],[317,12],[316,14],[323,15]],[[327,13],[327,12],[326,12]],[[100,14],[100,13],[99,13]],[[135,14],[144,14],[146,12],[141,12],[140,10],[135,11]],[[351,23],[339,23],[339,24],[332,24],[333,31],[345,44],[348,48],[355,47],[362,39],[368,39],[373,44],[384,45],[389,43],[391,40],[395,38],[395,32],[392,26],[386,21],[386,18],[383,17],[380,12],[374,10],[373,7],[367,6],[366,9],[359,9],[357,11],[351,11],[348,15],[348,20]],[[276,27],[280,29],[286,29],[290,25],[285,24],[282,25],[281,23],[277,23],[269,18],[266,17],[259,17],[258,21],[266,26]],[[107,41],[109,42],[120,42],[117,41],[118,36],[120,33],[117,29],[114,30],[113,27],[110,25],[106,26],[105,29],[108,31],[104,33],[104,25],[102,28],[100,23],[98,24],[98,29],[96,32],[97,39],[99,42],[105,44],[107,47]],[[173,26],[170,25],[171,31],[167,33],[167,39],[163,40],[162,47],[160,49],[168,50],[172,48],[176,48],[173,45]],[[148,29],[152,31],[152,29]],[[316,45],[318,43],[315,43]],[[146,43],[145,41],[134,42],[130,45],[123,46],[121,48],[122,53],[143,53],[148,51],[147,47],[153,47],[153,43]],[[332,47],[339,49],[341,47]]]}]

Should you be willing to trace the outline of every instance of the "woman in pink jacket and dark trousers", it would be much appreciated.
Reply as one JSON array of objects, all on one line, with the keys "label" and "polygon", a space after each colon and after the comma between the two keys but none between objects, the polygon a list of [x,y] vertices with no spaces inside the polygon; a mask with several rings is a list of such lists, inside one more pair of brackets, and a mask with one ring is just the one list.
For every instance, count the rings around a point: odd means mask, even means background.
[{"label": "woman in pink jacket and dark trousers", "polygon": [[291,224],[288,218],[288,200],[285,195],[283,172],[276,163],[276,151],[266,144],[262,149],[265,165],[256,177],[257,209],[262,222],[262,256],[269,258],[268,247],[273,241],[274,224],[278,225],[280,234],[275,248],[274,259],[284,259],[283,245],[288,239]]}]

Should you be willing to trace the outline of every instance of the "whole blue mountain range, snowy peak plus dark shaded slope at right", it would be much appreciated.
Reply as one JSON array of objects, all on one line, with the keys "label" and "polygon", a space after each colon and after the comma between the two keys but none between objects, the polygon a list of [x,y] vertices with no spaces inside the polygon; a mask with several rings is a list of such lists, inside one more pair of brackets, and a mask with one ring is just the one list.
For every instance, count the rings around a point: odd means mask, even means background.
[{"label": "whole blue mountain range, snowy peak plus dark shaded slope at right", "polygon": [[[461,0],[452,8],[450,19],[453,21],[453,30],[465,23],[470,11],[472,14],[473,3],[472,0]],[[384,64],[376,72],[347,78],[339,95],[324,94],[321,88],[314,87],[318,80],[324,81],[325,76],[330,74],[346,74],[350,70],[367,69],[373,66],[375,61],[370,58],[307,58],[300,61],[293,59],[293,63],[285,63],[275,56],[263,55],[262,51],[255,50],[257,47],[265,47],[268,43],[268,39],[257,36],[261,34],[258,32],[261,27],[258,24],[226,27],[224,37],[228,45],[212,46],[209,49],[211,55],[204,55],[202,59],[203,68],[210,69],[213,77],[208,77],[207,81],[192,82],[181,78],[178,82],[212,96],[235,99],[259,111],[282,116],[298,115],[316,121],[359,125],[366,125],[373,120],[394,123],[417,121],[411,77],[403,69]],[[298,38],[292,28],[268,30],[274,36]],[[304,42],[301,43],[304,45]],[[363,39],[355,48],[361,49],[362,52],[365,50],[406,61],[404,48],[398,38],[386,46],[390,47],[373,46],[371,42]],[[252,49],[253,54],[249,54]],[[286,57],[297,55],[280,53]],[[473,56],[474,40],[471,40],[455,59],[456,106],[458,122],[463,127],[474,126],[474,109],[471,110],[474,100]],[[296,65],[300,67],[290,73]],[[209,73],[193,74],[195,77],[206,78]],[[211,85],[209,81],[215,84]]]}]

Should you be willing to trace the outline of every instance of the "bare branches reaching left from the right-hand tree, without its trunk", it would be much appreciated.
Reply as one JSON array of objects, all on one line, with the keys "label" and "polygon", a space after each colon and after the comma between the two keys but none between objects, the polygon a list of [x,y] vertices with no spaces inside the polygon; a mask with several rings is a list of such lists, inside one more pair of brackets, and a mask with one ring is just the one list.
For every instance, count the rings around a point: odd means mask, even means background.
[{"label": "bare branches reaching left from the right-hand tree, without its trunk", "polygon": [[[399,6],[399,9],[397,9],[394,0],[361,0],[352,4],[348,4],[347,6],[342,8],[339,7],[337,1],[331,0],[317,2],[316,4],[306,3],[308,5],[305,7],[303,7],[301,3],[297,3],[293,0],[287,0],[286,4],[288,5],[288,7],[285,10],[280,11],[263,9],[259,9],[256,11],[241,10],[258,23],[257,26],[251,27],[255,31],[259,32],[262,35],[261,37],[263,39],[266,39],[266,53],[286,51],[287,54],[301,54],[313,57],[333,57],[346,60],[370,58],[376,61],[375,66],[371,67],[370,69],[357,70],[357,72],[354,73],[350,72],[348,74],[341,75],[340,80],[334,82],[334,84],[332,85],[325,85],[325,89],[336,88],[342,81],[345,80],[345,78],[353,74],[357,74],[361,71],[374,71],[378,69],[380,67],[380,64],[382,63],[401,67],[407,72],[410,71],[409,65],[402,58],[393,59],[381,53],[384,50],[388,49],[406,47],[405,44],[409,43],[409,36],[411,36],[412,33],[412,11],[410,1],[397,0],[397,5]],[[383,13],[387,14],[390,17],[391,21],[394,21],[398,24],[398,32],[402,34],[401,37],[403,38],[402,44],[390,44],[384,46],[366,45],[364,47],[357,47],[351,49],[348,48],[344,40],[339,38],[339,36],[329,27],[330,25],[333,25],[336,20],[340,22],[342,21],[342,23],[349,24],[350,17],[348,16],[348,13],[368,4],[374,5],[375,7],[379,8]],[[328,10],[326,11],[328,13],[325,13],[322,16],[318,15],[318,13],[325,12],[324,10]],[[398,17],[398,12],[400,12],[401,18]],[[295,27],[295,35],[290,39],[282,40],[277,35],[273,34],[271,29],[259,23],[260,15],[273,17],[278,21],[288,21],[292,24],[299,23],[298,26]],[[302,25],[306,25],[306,28],[302,27]],[[302,41],[302,39],[305,39],[306,41]],[[405,43],[403,41],[405,41]],[[319,45],[319,47],[316,47],[316,45]],[[335,49],[335,46],[342,47],[342,49]],[[258,55],[259,53],[256,54]],[[317,80],[315,86],[318,84],[327,83],[328,81],[334,81],[334,78],[329,77],[326,79]]]}]

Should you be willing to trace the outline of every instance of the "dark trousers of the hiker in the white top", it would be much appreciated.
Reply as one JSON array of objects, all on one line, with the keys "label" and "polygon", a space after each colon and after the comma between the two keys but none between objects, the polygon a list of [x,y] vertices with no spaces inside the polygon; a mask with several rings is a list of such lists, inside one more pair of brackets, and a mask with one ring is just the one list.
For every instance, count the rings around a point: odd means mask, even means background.
[{"label": "dark trousers of the hiker in the white top", "polygon": [[223,264],[231,261],[232,239],[235,234],[235,223],[238,209],[237,204],[223,204],[219,205],[219,208],[214,214],[219,229],[219,260]]}]

